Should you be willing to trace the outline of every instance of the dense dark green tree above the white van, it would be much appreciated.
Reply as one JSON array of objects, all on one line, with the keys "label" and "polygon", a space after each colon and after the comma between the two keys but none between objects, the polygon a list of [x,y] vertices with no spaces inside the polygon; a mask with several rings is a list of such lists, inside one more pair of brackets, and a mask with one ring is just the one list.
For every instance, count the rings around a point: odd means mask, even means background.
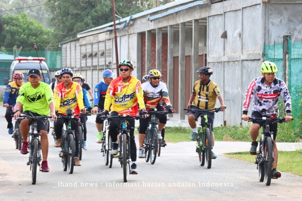
[{"label": "dense dark green tree above the white van", "polygon": [[23,50],[31,51],[34,43],[39,49],[44,49],[50,45],[52,33],[52,30],[25,14],[0,16],[0,47],[7,50],[22,46]]}]

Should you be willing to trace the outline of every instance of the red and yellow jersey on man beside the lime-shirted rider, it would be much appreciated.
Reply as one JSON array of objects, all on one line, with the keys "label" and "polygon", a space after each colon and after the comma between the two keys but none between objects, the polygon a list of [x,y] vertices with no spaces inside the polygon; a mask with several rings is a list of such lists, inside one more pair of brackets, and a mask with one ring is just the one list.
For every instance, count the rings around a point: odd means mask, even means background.
[{"label": "red and yellow jersey on man beside the lime-shirted rider", "polygon": [[81,85],[71,81],[70,88],[66,89],[63,83],[57,84],[54,88],[54,108],[60,114],[66,115],[66,110],[71,109],[74,115],[79,115],[80,109],[85,108]]}]

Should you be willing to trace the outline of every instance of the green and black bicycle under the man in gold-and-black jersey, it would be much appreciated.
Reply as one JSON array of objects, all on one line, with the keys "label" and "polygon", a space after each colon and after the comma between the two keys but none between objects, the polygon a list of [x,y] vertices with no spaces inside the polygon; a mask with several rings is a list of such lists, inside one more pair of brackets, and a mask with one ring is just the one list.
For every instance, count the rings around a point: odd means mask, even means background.
[{"label": "green and black bicycle under the man in gold-and-black jersey", "polygon": [[184,109],[185,111],[192,111],[192,113],[201,113],[201,129],[198,131],[196,142],[196,152],[198,153],[199,163],[208,169],[212,166],[212,136],[211,125],[208,123],[207,112],[219,112],[220,108],[213,108],[210,110]]}]

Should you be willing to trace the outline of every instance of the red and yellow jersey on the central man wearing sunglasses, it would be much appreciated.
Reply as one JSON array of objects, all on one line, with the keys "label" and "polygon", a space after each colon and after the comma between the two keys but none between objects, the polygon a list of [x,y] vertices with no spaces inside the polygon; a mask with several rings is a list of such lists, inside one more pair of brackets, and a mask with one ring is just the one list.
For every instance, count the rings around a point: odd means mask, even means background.
[{"label": "red and yellow jersey on the central man wearing sunglasses", "polygon": [[145,108],[141,83],[138,79],[131,76],[129,81],[125,83],[123,78],[119,76],[111,81],[105,97],[105,110],[134,116],[137,114],[137,104],[139,104],[140,109]]}]

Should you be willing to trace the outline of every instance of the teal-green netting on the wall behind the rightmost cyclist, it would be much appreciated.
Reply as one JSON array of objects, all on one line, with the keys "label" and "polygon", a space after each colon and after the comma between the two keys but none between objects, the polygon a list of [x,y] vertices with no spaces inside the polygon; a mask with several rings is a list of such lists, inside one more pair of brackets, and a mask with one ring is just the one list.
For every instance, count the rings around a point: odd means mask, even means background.
[{"label": "teal-green netting on the wall behind the rightmost cyclist", "polygon": [[[302,119],[302,43],[293,43],[288,39],[288,90],[291,95],[292,113],[297,121]],[[276,76],[283,78],[283,43],[264,46],[265,60],[274,62],[278,67]],[[286,69],[286,68],[285,68]]]}]

